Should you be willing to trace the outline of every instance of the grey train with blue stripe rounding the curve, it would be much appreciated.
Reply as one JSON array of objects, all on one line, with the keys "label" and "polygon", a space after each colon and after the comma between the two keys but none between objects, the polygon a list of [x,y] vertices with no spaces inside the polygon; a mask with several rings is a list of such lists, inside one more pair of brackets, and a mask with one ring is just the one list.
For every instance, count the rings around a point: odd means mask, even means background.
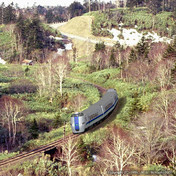
[{"label": "grey train with blue stripe rounding the curve", "polygon": [[71,115],[71,128],[74,134],[83,133],[86,129],[104,119],[118,102],[115,89],[108,89],[103,97],[82,112]]}]

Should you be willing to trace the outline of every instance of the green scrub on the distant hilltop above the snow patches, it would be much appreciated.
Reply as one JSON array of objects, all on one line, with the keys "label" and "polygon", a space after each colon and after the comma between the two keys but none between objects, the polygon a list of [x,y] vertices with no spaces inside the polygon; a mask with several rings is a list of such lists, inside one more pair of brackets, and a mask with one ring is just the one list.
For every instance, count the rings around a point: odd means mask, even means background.
[{"label": "green scrub on the distant hilltop above the snow patches", "polygon": [[[109,18],[108,13],[98,13],[91,12],[86,13],[85,16],[94,16],[94,21],[92,23],[92,33],[94,35],[103,36],[103,29],[108,29],[111,27],[118,28],[118,24],[115,18],[116,12],[121,13],[123,27],[134,28],[137,25],[138,31],[152,31],[155,30],[158,34],[165,36],[168,35],[172,37],[176,34],[176,23],[171,17],[172,12],[160,12],[156,15],[152,15],[147,8],[135,8],[130,11],[129,8],[119,8],[111,10],[114,16]],[[108,35],[108,33],[107,33]]]}]

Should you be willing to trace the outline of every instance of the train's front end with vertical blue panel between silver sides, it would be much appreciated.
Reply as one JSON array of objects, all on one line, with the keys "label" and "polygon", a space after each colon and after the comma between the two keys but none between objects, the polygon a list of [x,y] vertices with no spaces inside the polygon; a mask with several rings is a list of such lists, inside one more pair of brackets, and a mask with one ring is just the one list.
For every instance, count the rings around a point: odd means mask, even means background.
[{"label": "train's front end with vertical blue panel between silver sides", "polygon": [[73,133],[82,133],[85,131],[86,119],[83,113],[75,113],[71,116],[71,128]]}]

